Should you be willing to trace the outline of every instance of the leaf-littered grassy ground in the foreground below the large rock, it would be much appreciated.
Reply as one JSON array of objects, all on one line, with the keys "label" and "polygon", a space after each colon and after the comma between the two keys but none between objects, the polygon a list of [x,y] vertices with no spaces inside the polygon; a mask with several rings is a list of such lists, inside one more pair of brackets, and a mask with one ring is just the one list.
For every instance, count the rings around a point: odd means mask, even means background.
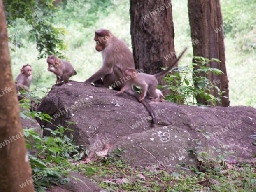
[{"label": "leaf-littered grassy ground in the foreground below the large rock", "polygon": [[168,173],[159,166],[135,168],[112,157],[79,165],[81,174],[107,191],[254,191],[255,165],[218,163],[195,174]]}]

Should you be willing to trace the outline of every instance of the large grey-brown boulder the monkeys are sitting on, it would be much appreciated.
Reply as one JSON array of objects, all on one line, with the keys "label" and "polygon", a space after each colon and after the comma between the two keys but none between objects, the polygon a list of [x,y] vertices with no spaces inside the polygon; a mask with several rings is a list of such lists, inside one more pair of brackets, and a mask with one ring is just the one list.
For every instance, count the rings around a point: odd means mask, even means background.
[{"label": "large grey-brown boulder the monkeys are sitting on", "polygon": [[[152,126],[146,108],[135,98],[82,82],[71,84],[52,86],[38,111],[51,115],[53,124],[72,128],[77,144],[84,144],[89,151],[111,143],[113,150],[125,149],[122,157],[134,164],[157,164],[156,157],[169,168],[181,162],[195,166],[196,158],[187,151],[200,146],[197,151],[207,149],[213,155],[220,153],[218,149],[233,152],[225,153],[229,160],[255,161],[256,147],[250,137],[256,135],[253,107],[197,107],[148,101],[159,121]],[[55,128],[51,123],[41,124]]]}]

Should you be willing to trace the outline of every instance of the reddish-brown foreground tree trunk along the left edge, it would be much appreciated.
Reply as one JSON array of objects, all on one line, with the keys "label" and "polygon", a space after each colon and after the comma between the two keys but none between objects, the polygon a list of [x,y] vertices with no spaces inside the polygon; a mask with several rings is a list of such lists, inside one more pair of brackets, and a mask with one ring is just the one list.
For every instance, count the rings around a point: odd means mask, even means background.
[{"label": "reddish-brown foreground tree trunk along the left edge", "polygon": [[[0,42],[0,191],[34,191],[30,161],[20,125],[16,88],[11,75],[2,0],[0,0]],[[27,186],[20,187],[24,183]]]}]

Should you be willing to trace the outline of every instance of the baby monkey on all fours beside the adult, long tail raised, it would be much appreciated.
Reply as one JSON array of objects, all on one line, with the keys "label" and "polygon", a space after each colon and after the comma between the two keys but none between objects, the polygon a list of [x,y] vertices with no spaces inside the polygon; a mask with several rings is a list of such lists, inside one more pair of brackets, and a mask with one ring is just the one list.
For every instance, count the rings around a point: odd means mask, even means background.
[{"label": "baby monkey on all fours beside the adult, long tail raised", "polygon": [[163,93],[159,89],[156,89],[158,86],[158,78],[164,77],[173,67],[174,65],[180,60],[180,58],[183,56],[183,54],[187,51],[187,48],[181,52],[180,56],[172,62],[172,64],[162,72],[156,73],[156,74],[147,74],[147,73],[138,73],[135,68],[127,68],[125,70],[125,76],[126,76],[126,85],[117,92],[117,94],[123,93],[123,91],[126,91],[130,89],[132,85],[140,86],[142,89],[141,97],[139,97],[139,101],[142,101],[148,92],[150,98],[153,101],[157,101],[160,99],[160,101],[163,102]]}]

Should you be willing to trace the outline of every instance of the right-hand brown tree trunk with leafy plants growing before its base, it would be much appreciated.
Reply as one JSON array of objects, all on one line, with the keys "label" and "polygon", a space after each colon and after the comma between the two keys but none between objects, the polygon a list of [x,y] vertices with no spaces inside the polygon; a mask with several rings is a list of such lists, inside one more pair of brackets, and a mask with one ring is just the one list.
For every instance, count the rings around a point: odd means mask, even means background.
[{"label": "right-hand brown tree trunk with leafy plants growing before its base", "polygon": [[[225,91],[225,97],[229,97],[228,75],[225,64],[225,45],[223,34],[223,22],[221,14],[220,0],[188,0],[188,15],[191,26],[191,38],[193,42],[193,55],[202,56],[207,59],[218,59],[221,62],[210,62],[210,67],[222,70],[224,74],[208,74],[208,78],[221,91]],[[195,43],[198,42],[198,43]],[[195,62],[195,61],[193,61]],[[205,74],[199,74],[205,76]],[[213,90],[214,97],[217,97],[217,90]],[[221,97],[218,106],[229,106],[229,98]],[[205,99],[199,96],[196,98],[198,103],[206,105]]]}]

